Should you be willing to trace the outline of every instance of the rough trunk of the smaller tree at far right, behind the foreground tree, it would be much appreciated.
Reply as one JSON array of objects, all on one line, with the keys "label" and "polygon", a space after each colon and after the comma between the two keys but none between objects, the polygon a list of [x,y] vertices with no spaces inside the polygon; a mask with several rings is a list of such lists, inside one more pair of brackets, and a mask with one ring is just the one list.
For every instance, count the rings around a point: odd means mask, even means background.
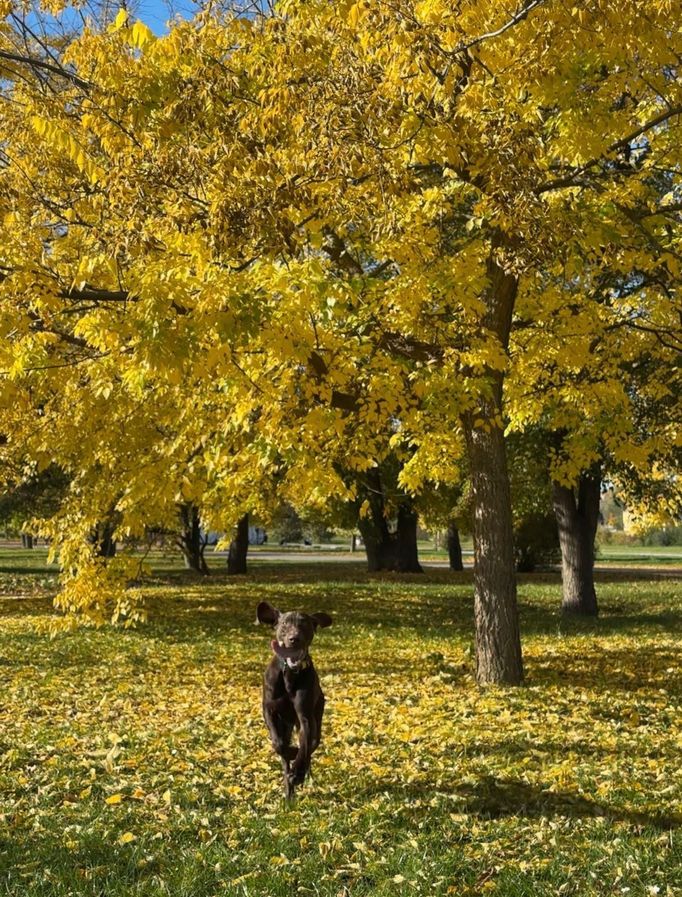
[{"label": "rough trunk of the smaller tree at far right, behind the foreground tree", "polygon": [[552,483],[554,513],[561,545],[561,585],[564,613],[596,617],[597,593],[594,588],[594,538],[599,521],[601,470],[583,473],[577,492]]}]

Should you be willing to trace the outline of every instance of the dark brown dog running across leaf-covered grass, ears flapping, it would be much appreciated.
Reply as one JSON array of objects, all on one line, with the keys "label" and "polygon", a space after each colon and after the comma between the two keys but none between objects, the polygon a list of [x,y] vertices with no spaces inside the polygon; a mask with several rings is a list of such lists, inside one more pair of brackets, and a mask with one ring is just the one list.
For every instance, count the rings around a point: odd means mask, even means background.
[{"label": "dark brown dog running across leaf-covered grass, ears flapping", "polygon": [[[331,626],[327,614],[282,613],[261,601],[259,623],[275,630],[274,657],[263,678],[263,718],[284,773],[284,794],[291,798],[310,770],[310,758],[320,743],[324,695],[308,648],[318,627]],[[300,730],[298,748],[291,735]]]}]

